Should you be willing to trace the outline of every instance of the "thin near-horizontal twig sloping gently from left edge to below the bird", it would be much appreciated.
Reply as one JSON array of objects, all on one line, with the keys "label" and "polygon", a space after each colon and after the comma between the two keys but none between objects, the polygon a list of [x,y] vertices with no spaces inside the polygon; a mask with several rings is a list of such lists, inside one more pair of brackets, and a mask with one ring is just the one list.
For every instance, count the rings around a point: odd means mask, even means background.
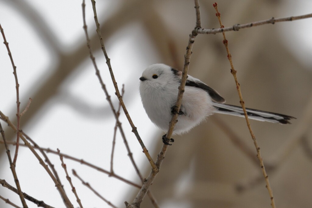
[{"label": "thin near-horizontal twig sloping gently from left edge to below the bird", "polygon": [[[0,143],[3,143],[3,141],[0,140]],[[15,142],[7,142],[7,144],[16,145]],[[22,147],[27,147],[25,144],[20,144],[20,145],[21,145]],[[38,149],[38,147],[36,147],[36,146],[33,146],[33,148]],[[41,147],[40,147],[40,148],[41,148]],[[47,153],[52,153],[52,154],[58,155],[58,153],[57,153],[56,151],[51,150],[50,148],[41,148],[41,149],[42,149],[43,151],[46,151]],[[117,175],[117,174],[115,174],[115,173],[111,173],[111,172],[109,172],[109,171],[107,171],[107,170],[105,170],[105,169],[103,169],[103,168],[101,168],[101,167],[95,166],[95,165],[91,164],[90,162],[86,162],[86,161],[84,161],[83,159],[78,159],[78,158],[76,158],[76,157],[72,157],[72,156],[70,156],[70,155],[63,154],[63,153],[60,153],[60,154],[61,154],[62,157],[65,157],[65,158],[67,158],[67,159],[70,159],[70,160],[79,162],[79,163],[82,164],[82,165],[86,165],[86,166],[88,166],[88,167],[91,167],[91,168],[93,168],[93,169],[95,169],[95,170],[97,170],[97,171],[99,171],[99,172],[102,172],[102,173],[105,173],[105,174],[109,175],[110,177],[114,177],[114,178],[116,178],[116,179],[118,179],[118,180],[120,180],[120,181],[123,181],[123,182],[126,183],[126,184],[129,184],[129,185],[134,186],[134,187],[137,187],[137,188],[141,188],[140,185],[138,185],[138,184],[136,184],[136,183],[134,183],[134,182],[132,182],[132,181],[129,181],[129,180],[127,180],[127,179],[125,179],[125,178],[123,178],[123,177],[121,177],[121,176],[119,176],[119,175]]]}]

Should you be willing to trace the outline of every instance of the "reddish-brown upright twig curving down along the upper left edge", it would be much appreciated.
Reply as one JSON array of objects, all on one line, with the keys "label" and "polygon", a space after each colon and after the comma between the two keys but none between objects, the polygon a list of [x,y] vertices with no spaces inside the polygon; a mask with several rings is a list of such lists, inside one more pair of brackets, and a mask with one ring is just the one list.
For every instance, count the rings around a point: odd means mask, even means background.
[{"label": "reddish-brown upright twig curving down along the upper left edge", "polygon": [[[9,43],[7,42],[7,39],[5,38],[5,35],[4,35],[4,31],[3,31],[3,28],[1,27],[1,24],[0,24],[0,31],[1,31],[1,34],[2,34],[2,37],[3,37],[3,43],[4,45],[7,47],[7,53],[10,57],[10,60],[11,60],[11,64],[12,64],[12,67],[13,67],[13,74],[14,74],[14,79],[15,79],[15,88],[16,88],[16,118],[17,118],[17,133],[16,133],[16,148],[15,148],[15,154],[14,154],[14,159],[13,159],[13,164],[15,165],[16,163],[16,159],[17,159],[17,153],[18,153],[18,144],[19,144],[19,130],[20,130],[20,101],[19,101],[19,84],[18,84],[18,80],[17,80],[17,73],[16,73],[16,66],[14,64],[14,61],[13,61],[13,57],[12,57],[12,53],[10,51],[10,48],[9,48]],[[24,206],[24,204],[23,204]]]}]

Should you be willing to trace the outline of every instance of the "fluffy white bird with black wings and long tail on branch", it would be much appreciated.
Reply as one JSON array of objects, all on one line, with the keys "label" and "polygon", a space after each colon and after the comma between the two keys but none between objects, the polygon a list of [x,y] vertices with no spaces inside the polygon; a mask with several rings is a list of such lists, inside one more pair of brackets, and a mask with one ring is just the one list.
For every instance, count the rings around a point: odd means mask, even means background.
[{"label": "fluffy white bird with black wings and long tail on branch", "polygon": [[[148,66],[140,77],[140,95],[149,119],[161,130],[167,132],[173,113],[178,113],[173,134],[187,133],[214,113],[244,117],[241,107],[223,104],[225,99],[205,83],[188,75],[180,112],[175,112],[178,86],[182,72],[165,64]],[[286,124],[292,116],[246,108],[249,119]],[[169,144],[166,135],[163,143]],[[170,141],[174,141],[173,139]]]}]

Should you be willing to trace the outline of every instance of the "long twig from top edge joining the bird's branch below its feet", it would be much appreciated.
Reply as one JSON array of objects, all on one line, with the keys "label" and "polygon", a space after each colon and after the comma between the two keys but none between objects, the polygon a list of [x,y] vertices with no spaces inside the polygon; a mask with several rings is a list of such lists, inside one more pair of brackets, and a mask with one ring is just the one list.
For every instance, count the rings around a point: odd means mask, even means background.
[{"label": "long twig from top edge joining the bird's branch below its feet", "polygon": [[115,76],[114,76],[114,73],[113,73],[113,70],[112,70],[112,67],[110,65],[110,58],[108,57],[107,53],[106,53],[106,50],[105,50],[105,46],[104,46],[104,42],[103,42],[103,38],[102,38],[102,35],[101,35],[101,31],[100,31],[100,23],[97,19],[97,15],[96,15],[96,8],[95,8],[95,0],[91,0],[92,2],[92,8],[93,8],[93,13],[94,13],[94,20],[95,20],[95,25],[96,25],[96,32],[99,36],[99,39],[100,39],[100,44],[101,44],[101,48],[102,48],[102,51],[104,53],[104,56],[105,56],[105,59],[106,59],[106,64],[108,66],[108,69],[110,71],[110,76],[112,78],[112,81],[113,81],[113,85],[115,87],[115,90],[116,90],[116,95],[117,95],[117,98],[119,99],[119,102],[121,104],[121,107],[122,109],[124,110],[124,114],[126,115],[128,121],[129,121],[129,124],[132,128],[132,132],[134,133],[134,135],[136,136],[137,140],[139,141],[142,149],[143,149],[143,152],[145,154],[145,156],[147,157],[149,163],[151,164],[152,166],[152,169],[154,172],[158,172],[158,168],[157,166],[155,165],[152,157],[149,155],[149,152],[148,150],[146,149],[142,139],[140,138],[140,135],[137,131],[137,128],[134,126],[133,122],[132,122],[132,119],[130,118],[130,115],[128,113],[128,110],[126,109],[126,106],[124,105],[124,101],[122,99],[122,96],[120,95],[120,92],[119,92],[119,89],[118,89],[118,85],[117,85],[117,82],[115,80]]}]

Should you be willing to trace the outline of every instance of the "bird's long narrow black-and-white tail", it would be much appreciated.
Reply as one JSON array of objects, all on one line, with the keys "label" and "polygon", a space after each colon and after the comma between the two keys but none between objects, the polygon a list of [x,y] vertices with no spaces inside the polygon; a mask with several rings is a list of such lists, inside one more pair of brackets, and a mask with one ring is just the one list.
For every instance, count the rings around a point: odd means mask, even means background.
[{"label": "bird's long narrow black-and-white tail", "polygon": [[[245,117],[244,111],[241,107],[215,102],[213,103],[213,106],[217,109],[216,113]],[[290,123],[289,122],[290,119],[295,119],[295,117],[292,116],[276,114],[250,108],[246,108],[246,111],[249,119],[254,119],[258,121],[268,121],[272,123],[287,124]]]}]

